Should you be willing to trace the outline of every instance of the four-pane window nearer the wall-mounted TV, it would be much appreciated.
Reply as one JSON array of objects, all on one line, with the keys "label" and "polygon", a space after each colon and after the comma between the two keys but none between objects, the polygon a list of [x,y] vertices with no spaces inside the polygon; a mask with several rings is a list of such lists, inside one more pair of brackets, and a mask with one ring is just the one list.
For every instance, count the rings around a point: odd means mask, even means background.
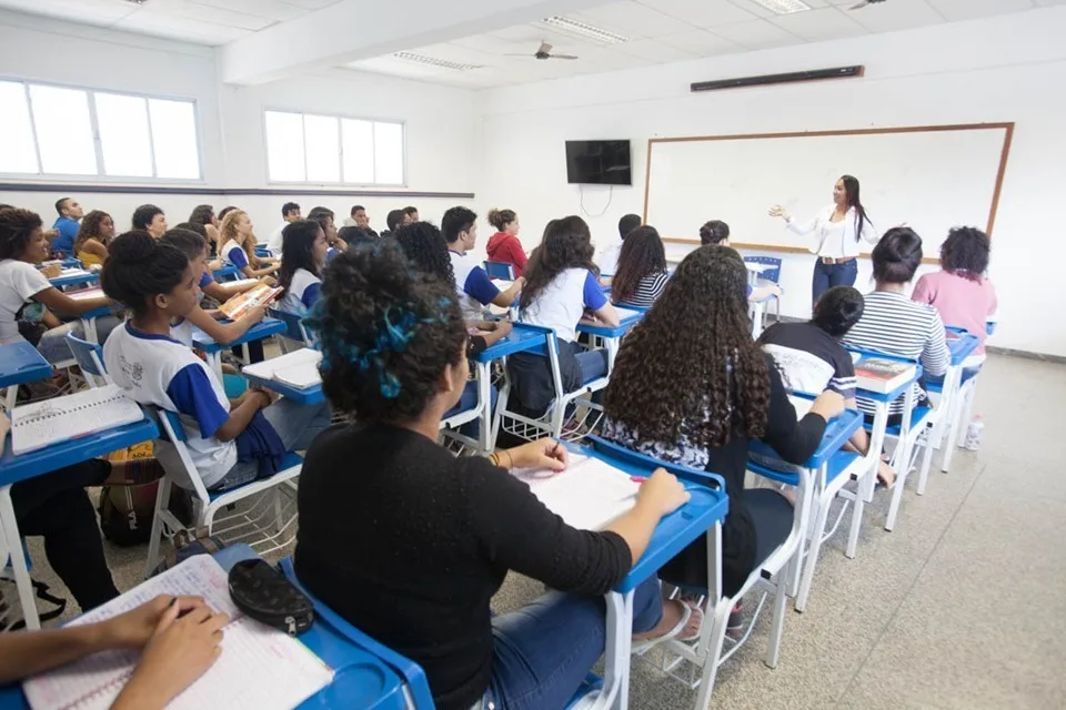
[{"label": "four-pane window nearer the wall-mounted TV", "polygon": [[403,124],[266,111],[272,182],[402,185]]}]

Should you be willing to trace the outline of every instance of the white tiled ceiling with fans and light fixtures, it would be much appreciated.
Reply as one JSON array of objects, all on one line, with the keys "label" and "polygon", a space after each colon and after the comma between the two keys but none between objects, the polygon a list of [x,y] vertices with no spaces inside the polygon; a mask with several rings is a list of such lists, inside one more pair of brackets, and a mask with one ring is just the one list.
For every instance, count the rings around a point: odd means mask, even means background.
[{"label": "white tiled ceiling with fans and light fixtures", "polygon": [[[261,59],[283,62],[285,57],[279,57],[276,48],[289,44],[284,40],[293,36],[306,37],[313,28],[321,34],[321,43],[313,48],[319,54],[291,59],[291,73],[316,63],[486,88],[1066,4],[1066,0],[886,0],[851,10],[857,1],[804,0],[811,9],[791,14],[776,14],[754,0],[621,0],[604,4],[597,0],[400,0],[391,4],[383,0],[145,0],[143,4],[131,0],[0,0],[0,8],[228,45],[224,52],[230,54],[247,50],[245,58],[253,67]],[[434,16],[436,10],[441,12]],[[461,12],[462,20],[455,19]],[[604,44],[527,22],[549,14],[607,30],[626,41]],[[364,22],[379,30],[352,29]],[[420,22],[422,26],[414,27]],[[535,60],[532,54],[542,41],[551,43],[555,53],[580,59]],[[474,68],[456,70],[401,60],[392,55],[398,50]],[[511,53],[525,57],[509,57]],[[225,78],[241,82],[243,77],[238,74],[227,72]],[[264,80],[265,75],[260,78]]]}]

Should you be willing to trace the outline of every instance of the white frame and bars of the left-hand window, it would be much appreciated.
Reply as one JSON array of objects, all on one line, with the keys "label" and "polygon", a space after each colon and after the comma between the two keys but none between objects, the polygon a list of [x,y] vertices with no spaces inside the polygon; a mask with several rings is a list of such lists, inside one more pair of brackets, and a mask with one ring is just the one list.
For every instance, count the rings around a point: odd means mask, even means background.
[{"label": "white frame and bars of the left-hand window", "polygon": [[[79,87],[74,84],[62,84],[52,81],[36,81],[32,79],[22,79],[19,77],[6,77],[0,74],[0,81],[22,84],[22,91],[26,94],[27,106],[30,111],[30,132],[33,135],[33,152],[37,154],[37,166],[38,172],[36,173],[12,173],[12,172],[0,172],[0,179],[9,182],[34,182],[34,183],[115,183],[115,184],[204,184],[204,174],[203,174],[203,132],[201,131],[202,122],[200,121],[200,103],[195,99],[190,99],[189,97],[175,97],[167,94],[148,94],[139,93],[135,91],[121,91],[114,89],[105,89],[102,87]],[[74,91],[84,91],[89,101],[89,121],[90,130],[92,131],[92,146],[93,153],[97,158],[97,174],[95,175],[72,175],[68,173],[46,173],[43,172],[43,165],[41,164],[41,146],[37,138],[37,124],[33,121],[33,101],[30,98],[30,87],[52,87],[56,89],[71,89]],[[184,103],[192,104],[192,120],[193,129],[197,132],[197,165],[200,170],[199,178],[147,178],[147,176],[135,176],[135,175],[108,175],[104,172],[103,165],[103,143],[100,140],[100,125],[97,122],[97,93],[108,93],[120,97],[131,97],[134,99],[144,99],[145,101],[150,99],[157,99],[160,101],[181,101]],[[149,138],[152,135],[152,123],[149,119],[148,123]],[[149,149],[151,150],[152,158],[152,172],[155,172],[155,148],[149,142]]]}]

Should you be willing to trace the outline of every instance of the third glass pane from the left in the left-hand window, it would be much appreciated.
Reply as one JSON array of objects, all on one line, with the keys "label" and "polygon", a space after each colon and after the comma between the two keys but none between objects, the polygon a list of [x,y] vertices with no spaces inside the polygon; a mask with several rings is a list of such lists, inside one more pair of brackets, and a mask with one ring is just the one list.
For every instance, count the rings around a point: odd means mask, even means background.
[{"label": "third glass pane from the left in the left-hand window", "polygon": [[97,93],[97,125],[105,175],[152,176],[148,106],[139,97]]}]

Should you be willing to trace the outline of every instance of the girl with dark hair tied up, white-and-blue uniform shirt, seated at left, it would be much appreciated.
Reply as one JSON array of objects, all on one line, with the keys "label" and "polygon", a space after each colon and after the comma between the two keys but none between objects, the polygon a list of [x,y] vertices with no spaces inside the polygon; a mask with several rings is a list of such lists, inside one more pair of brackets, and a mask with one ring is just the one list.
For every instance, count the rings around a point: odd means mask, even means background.
[{"label": "girl with dark hair tied up, white-and-blue uniform shirt, seated at left", "polygon": [[[175,318],[197,307],[197,273],[168,243],[130,232],[111,243],[103,290],[132,310],[103,346],[115,384],[140,404],[180,415],[193,464],[209,490],[278,473],[286,452],[305,449],[330,423],[326,404],[273,402],[261,389],[227,399],[222,383],[189,347],[171,338]],[[169,447],[162,447],[165,458]]]}]

